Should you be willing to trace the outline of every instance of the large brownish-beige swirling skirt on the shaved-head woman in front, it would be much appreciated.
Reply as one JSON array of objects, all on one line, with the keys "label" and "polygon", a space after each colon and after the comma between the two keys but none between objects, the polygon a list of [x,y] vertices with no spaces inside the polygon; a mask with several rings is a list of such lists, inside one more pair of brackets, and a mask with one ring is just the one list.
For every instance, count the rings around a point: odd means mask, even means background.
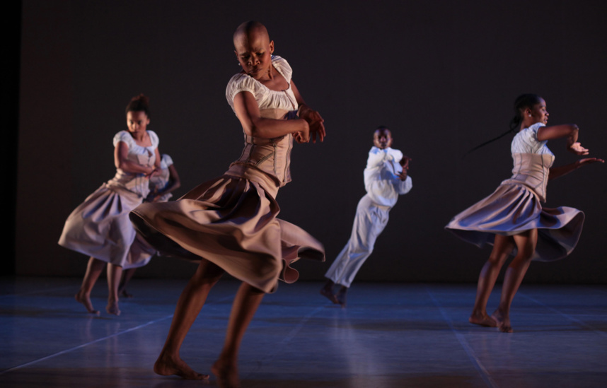
[{"label": "large brownish-beige swirling skirt on the shaved-head woman in front", "polygon": [[177,201],[144,203],[130,217],[160,254],[207,259],[231,276],[271,293],[278,280],[293,283],[300,258],[324,261],[323,245],[276,218],[278,187],[255,168],[233,165]]}]

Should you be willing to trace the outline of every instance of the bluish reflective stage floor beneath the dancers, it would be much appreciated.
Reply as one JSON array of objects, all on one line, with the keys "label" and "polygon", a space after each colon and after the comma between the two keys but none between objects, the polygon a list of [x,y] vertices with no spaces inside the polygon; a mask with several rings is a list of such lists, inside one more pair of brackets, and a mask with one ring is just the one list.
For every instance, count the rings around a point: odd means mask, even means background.
[{"label": "bluish reflective stage floor beneath the dancers", "polygon": [[[186,282],[135,278],[115,317],[100,279],[94,317],[74,300],[80,279],[0,279],[0,387],[215,387],[152,370]],[[344,309],[321,285],[264,298],[241,348],[243,388],[607,387],[607,286],[523,284],[504,334],[468,323],[474,284],[354,283]],[[237,287],[220,281],[185,339],[197,372],[219,354]]]}]

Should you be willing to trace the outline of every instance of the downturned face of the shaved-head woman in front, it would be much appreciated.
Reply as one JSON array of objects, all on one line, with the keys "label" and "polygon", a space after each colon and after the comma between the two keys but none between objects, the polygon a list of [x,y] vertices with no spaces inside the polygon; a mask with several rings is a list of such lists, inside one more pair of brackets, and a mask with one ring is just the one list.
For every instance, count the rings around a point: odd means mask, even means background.
[{"label": "downturned face of the shaved-head woman in front", "polygon": [[256,29],[236,37],[234,52],[246,74],[256,80],[267,78],[272,66],[274,42],[264,30]]}]

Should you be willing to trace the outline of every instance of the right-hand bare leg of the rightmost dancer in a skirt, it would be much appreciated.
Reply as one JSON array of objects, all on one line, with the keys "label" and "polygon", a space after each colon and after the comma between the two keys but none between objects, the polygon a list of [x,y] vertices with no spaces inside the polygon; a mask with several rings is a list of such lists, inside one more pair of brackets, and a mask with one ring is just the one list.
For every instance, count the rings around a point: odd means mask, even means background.
[{"label": "right-hand bare leg of the rightmost dancer in a skirt", "polygon": [[538,243],[538,230],[532,229],[520,235],[515,235],[514,242],[516,242],[518,252],[506,269],[504,284],[502,285],[502,297],[499,300],[497,310],[492,314],[492,318],[497,321],[499,331],[504,333],[512,332],[510,305],[512,299],[514,299],[514,294],[521,286],[529,264],[531,264],[531,257],[533,257],[533,252],[535,252]]}]

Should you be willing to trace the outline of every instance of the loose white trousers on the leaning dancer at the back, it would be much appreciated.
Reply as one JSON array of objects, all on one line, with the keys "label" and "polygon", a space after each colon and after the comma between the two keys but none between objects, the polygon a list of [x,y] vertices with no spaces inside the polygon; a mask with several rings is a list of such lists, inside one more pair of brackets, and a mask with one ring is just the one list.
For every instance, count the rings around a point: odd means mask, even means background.
[{"label": "loose white trousers on the leaning dancer at the back", "polygon": [[375,240],[388,223],[388,206],[374,204],[368,195],[358,202],[352,235],[325,274],[333,283],[349,287],[362,264],[373,252]]}]

